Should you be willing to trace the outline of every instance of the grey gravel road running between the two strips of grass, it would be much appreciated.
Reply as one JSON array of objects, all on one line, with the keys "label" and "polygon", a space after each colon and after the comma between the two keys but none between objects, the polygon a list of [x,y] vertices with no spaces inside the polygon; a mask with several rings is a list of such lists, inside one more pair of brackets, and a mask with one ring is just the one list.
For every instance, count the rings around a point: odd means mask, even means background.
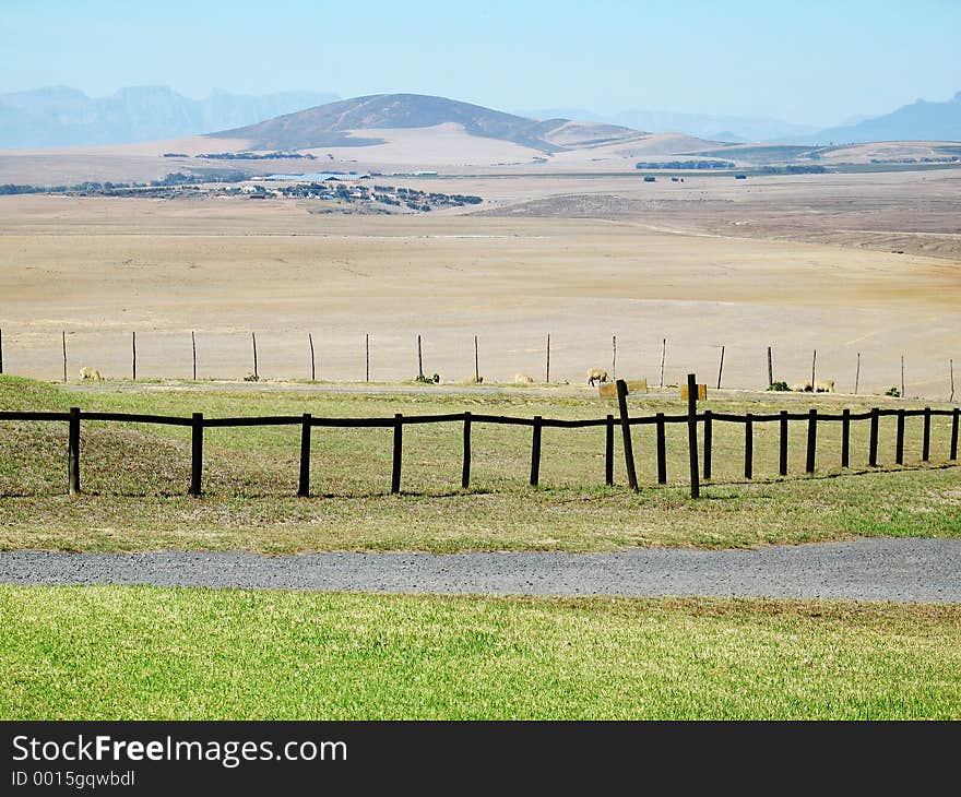
[{"label": "grey gravel road running between the two strips of grass", "polygon": [[0,583],[496,595],[717,595],[961,602],[961,539],[859,539],[756,550],[431,555],[0,552]]}]

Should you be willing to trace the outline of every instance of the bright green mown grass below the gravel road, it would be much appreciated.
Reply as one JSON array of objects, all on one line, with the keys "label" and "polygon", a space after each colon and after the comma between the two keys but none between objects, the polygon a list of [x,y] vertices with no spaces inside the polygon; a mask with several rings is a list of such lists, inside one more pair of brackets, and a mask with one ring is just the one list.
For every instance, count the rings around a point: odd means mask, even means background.
[{"label": "bright green mown grass below the gravel road", "polygon": [[2,719],[961,718],[961,607],[0,587]]}]

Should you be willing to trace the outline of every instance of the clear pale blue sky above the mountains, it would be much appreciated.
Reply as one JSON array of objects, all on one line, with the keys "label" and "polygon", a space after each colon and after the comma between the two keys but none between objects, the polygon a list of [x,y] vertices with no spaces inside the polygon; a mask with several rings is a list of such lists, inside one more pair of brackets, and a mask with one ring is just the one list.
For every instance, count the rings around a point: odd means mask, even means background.
[{"label": "clear pale blue sky above the mountains", "polygon": [[961,91],[961,0],[0,0],[0,92],[438,94],[827,126]]}]

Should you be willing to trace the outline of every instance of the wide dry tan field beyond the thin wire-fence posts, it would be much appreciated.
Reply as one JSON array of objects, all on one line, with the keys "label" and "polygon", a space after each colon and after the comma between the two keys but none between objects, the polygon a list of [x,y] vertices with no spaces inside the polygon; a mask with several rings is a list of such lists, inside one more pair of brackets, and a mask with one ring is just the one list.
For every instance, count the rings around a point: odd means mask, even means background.
[{"label": "wide dry tan field beyond the thin wire-fence posts", "polygon": [[588,368],[725,388],[833,378],[946,400],[961,382],[961,170],[751,177],[391,178],[474,193],[465,213],[324,212],[320,202],[210,198],[0,199],[8,373],[487,382]]}]

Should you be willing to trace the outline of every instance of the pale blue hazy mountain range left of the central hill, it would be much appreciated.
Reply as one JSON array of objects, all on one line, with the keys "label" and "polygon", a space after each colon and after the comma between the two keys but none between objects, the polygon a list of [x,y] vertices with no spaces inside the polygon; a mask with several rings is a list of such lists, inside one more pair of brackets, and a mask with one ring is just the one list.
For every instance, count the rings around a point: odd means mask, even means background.
[{"label": "pale blue hazy mountain range left of the central hill", "polygon": [[0,147],[127,144],[209,133],[337,99],[336,94],[287,92],[242,96],[214,91],[191,99],[167,86],[121,88],[88,97],[56,86],[0,94]]}]

